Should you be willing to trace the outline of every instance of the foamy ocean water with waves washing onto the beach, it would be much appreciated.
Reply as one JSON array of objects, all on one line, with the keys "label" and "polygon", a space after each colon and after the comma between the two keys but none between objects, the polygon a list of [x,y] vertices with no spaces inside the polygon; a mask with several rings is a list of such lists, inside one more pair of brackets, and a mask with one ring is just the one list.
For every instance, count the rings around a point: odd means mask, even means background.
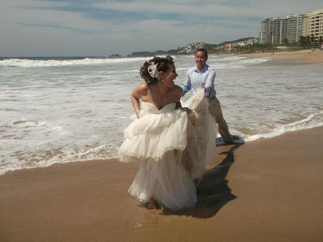
[{"label": "foamy ocean water with waves washing onto the beach", "polygon": [[[147,59],[0,58],[0,174],[116,157]],[[323,125],[323,65],[255,66],[269,59],[208,58],[229,129],[246,142]],[[183,85],[194,57],[174,61]]]}]

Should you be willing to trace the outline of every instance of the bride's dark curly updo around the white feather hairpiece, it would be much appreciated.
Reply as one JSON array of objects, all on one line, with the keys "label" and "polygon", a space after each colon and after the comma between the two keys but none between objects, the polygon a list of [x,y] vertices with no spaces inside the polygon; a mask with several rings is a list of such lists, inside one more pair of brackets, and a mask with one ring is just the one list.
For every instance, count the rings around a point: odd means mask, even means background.
[{"label": "bride's dark curly updo around the white feather hairpiece", "polygon": [[[140,68],[140,76],[142,79],[145,80],[145,82],[149,85],[153,82],[158,81],[158,74],[156,77],[152,77],[152,75],[149,73],[148,68],[152,65],[155,65],[155,69],[157,72],[167,72],[170,69],[170,65],[174,64],[173,57],[170,55],[167,55],[164,57],[157,57],[154,56],[152,59],[149,59],[148,62],[145,62],[143,66]],[[153,68],[151,68],[153,70]]]}]

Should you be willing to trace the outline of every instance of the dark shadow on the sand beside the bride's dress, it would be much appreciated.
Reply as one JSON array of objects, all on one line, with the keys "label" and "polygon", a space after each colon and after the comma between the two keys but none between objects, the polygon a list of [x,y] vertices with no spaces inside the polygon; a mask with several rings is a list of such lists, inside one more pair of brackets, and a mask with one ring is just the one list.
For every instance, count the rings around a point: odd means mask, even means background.
[{"label": "dark shadow on the sand beside the bride's dress", "polygon": [[[227,155],[223,161],[204,172],[199,185],[196,187],[197,204],[194,209],[179,212],[164,210],[162,214],[210,218],[215,216],[229,201],[236,199],[237,197],[231,193],[226,176],[234,162],[234,151],[241,145],[236,144],[229,151],[222,152],[221,154]],[[197,184],[198,181],[195,181],[195,183]]]}]

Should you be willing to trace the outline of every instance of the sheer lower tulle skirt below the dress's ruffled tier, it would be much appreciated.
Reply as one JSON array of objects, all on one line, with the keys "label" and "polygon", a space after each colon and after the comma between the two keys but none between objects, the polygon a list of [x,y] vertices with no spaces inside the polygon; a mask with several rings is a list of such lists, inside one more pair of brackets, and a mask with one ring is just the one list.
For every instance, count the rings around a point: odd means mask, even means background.
[{"label": "sheer lower tulle skirt below the dress's ruffled tier", "polygon": [[194,207],[196,189],[187,170],[177,162],[181,155],[181,151],[168,151],[158,162],[152,159],[140,161],[128,192],[144,203],[153,197],[161,209],[176,211]]}]

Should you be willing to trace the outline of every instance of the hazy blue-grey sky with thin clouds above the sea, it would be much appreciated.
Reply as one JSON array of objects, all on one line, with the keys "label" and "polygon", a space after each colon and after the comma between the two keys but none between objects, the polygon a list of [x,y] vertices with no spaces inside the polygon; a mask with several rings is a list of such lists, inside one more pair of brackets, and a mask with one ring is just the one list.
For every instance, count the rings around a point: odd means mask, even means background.
[{"label": "hazy blue-grey sky with thin clouds above the sea", "polygon": [[258,37],[321,0],[0,0],[0,56],[106,56]]}]

